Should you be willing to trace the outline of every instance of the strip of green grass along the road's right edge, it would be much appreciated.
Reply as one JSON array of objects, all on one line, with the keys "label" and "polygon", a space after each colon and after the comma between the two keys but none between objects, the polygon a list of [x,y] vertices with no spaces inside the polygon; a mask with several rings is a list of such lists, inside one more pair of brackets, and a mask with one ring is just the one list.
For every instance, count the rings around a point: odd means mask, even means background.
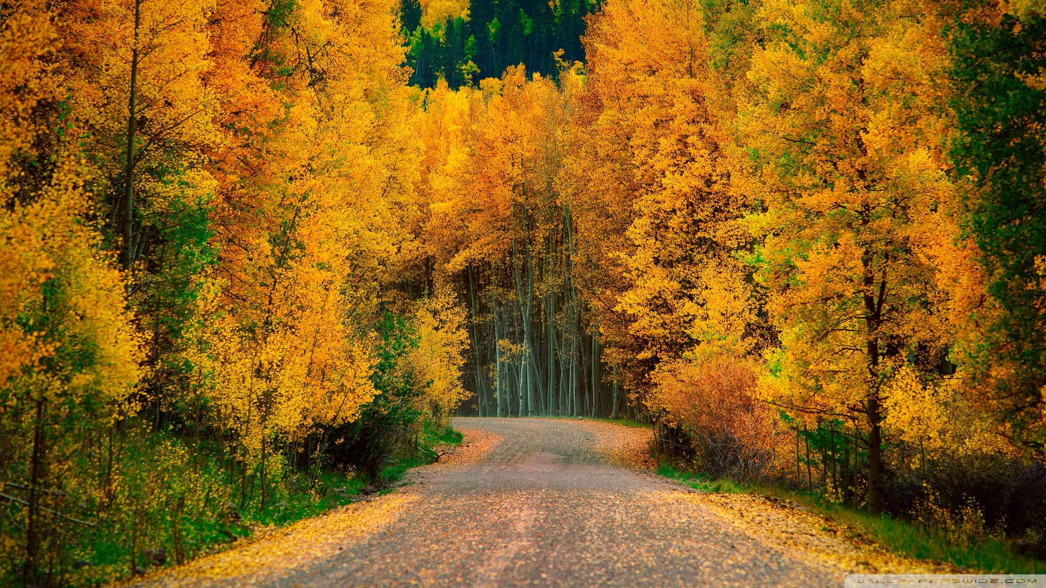
[{"label": "strip of green grass along the road's right edge", "polygon": [[700,474],[680,472],[667,465],[660,467],[658,475],[699,492],[750,494],[794,501],[833,523],[860,529],[868,539],[890,551],[960,571],[1046,573],[1046,563],[1014,553],[1008,540],[991,537],[977,541],[956,540],[942,533],[926,532],[907,521],[873,516],[836,504],[819,495],[775,485],[745,484],[728,479],[711,480]]}]

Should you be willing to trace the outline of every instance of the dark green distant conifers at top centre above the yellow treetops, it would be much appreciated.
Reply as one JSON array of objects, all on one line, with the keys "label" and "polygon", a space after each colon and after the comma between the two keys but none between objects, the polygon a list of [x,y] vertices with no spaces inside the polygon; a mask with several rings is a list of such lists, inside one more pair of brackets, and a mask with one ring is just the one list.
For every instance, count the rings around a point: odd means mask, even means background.
[{"label": "dark green distant conifers at top centre above the yellow treetops", "polygon": [[433,88],[444,77],[456,90],[519,64],[528,74],[555,77],[559,51],[568,64],[585,60],[585,17],[597,6],[590,0],[473,0],[463,17],[427,26],[419,0],[402,0],[410,85]]}]

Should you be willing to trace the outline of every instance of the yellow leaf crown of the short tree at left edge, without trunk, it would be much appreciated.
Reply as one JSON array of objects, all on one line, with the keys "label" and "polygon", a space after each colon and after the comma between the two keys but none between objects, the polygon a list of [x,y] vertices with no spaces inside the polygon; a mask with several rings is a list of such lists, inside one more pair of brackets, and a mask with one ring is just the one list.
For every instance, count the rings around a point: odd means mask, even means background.
[{"label": "yellow leaf crown of the short tree at left edge, without trunk", "polygon": [[9,402],[90,397],[113,410],[138,379],[139,339],[122,279],[96,248],[81,181],[75,164],[62,159],[29,204],[5,195],[0,390]]}]

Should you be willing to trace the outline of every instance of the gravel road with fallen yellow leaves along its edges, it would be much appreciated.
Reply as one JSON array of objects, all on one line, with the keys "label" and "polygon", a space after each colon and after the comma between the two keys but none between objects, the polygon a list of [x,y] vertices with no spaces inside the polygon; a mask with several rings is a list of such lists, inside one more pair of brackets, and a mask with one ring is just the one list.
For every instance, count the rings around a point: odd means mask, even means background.
[{"label": "gravel road with fallen yellow leaves along its edges", "polygon": [[651,430],[454,419],[464,442],[394,492],[135,582],[243,586],[803,586],[931,572],[780,500],[657,476]]}]

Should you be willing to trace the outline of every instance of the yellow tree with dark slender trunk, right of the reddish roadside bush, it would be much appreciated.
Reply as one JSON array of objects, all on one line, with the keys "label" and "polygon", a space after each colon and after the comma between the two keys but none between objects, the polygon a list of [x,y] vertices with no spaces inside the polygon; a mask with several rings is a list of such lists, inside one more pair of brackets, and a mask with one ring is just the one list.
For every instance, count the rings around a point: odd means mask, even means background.
[{"label": "yellow tree with dark slender trunk, right of the reddish roadside bush", "polygon": [[903,1],[770,0],[758,19],[767,43],[740,120],[764,184],[750,220],[780,334],[765,391],[866,432],[881,512],[889,390],[906,366],[937,377],[950,334],[930,253],[952,226],[939,22]]}]

